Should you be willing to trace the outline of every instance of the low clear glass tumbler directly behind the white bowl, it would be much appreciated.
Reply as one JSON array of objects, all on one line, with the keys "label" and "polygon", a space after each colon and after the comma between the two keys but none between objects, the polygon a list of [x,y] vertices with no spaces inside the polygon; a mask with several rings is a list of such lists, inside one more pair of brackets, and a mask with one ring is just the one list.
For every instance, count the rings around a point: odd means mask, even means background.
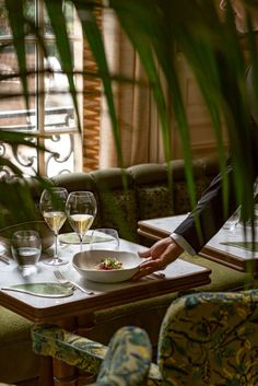
[{"label": "low clear glass tumbler directly behind the white bowl", "polygon": [[98,227],[92,231],[90,249],[119,249],[119,236],[112,227]]}]

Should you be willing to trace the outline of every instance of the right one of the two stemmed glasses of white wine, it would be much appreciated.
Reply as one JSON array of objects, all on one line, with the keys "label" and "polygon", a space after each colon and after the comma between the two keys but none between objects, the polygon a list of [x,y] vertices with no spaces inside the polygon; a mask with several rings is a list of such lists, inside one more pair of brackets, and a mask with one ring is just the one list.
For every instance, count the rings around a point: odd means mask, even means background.
[{"label": "right one of the two stemmed glasses of white wine", "polygon": [[66,210],[68,220],[80,238],[80,250],[82,252],[83,237],[96,215],[96,199],[91,191],[72,191],[68,196]]}]

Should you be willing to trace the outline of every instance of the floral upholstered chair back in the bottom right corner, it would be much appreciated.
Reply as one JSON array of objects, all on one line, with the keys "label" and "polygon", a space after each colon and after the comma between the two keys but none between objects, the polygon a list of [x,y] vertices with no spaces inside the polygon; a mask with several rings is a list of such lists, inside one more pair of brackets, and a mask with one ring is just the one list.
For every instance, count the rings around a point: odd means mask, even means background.
[{"label": "floral upholstered chair back in the bottom right corner", "polygon": [[258,385],[258,291],[177,299],[162,325],[159,365],[165,386]]}]

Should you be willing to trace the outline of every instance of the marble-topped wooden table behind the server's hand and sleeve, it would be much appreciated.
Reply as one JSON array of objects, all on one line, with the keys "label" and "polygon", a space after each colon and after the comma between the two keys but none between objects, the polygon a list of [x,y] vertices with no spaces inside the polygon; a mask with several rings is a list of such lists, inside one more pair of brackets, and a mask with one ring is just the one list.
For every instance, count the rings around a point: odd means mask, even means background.
[{"label": "marble-topped wooden table behind the server's hand and sleeve", "polygon": [[[139,221],[138,233],[154,241],[167,237],[181,223],[187,214]],[[199,253],[200,256],[220,262],[238,271],[258,271],[258,229],[256,232],[256,249],[248,249],[251,243],[251,229],[237,224],[235,230],[223,227],[209,241]]]}]

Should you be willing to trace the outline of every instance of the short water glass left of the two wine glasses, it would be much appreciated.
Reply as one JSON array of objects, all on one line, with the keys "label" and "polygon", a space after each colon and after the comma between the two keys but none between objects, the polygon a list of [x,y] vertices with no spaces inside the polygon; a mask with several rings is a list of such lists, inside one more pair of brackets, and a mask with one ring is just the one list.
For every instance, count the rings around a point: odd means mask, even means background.
[{"label": "short water glass left of the two wine glasses", "polygon": [[12,235],[11,250],[20,269],[33,268],[42,255],[42,241],[36,231],[17,231]]}]

